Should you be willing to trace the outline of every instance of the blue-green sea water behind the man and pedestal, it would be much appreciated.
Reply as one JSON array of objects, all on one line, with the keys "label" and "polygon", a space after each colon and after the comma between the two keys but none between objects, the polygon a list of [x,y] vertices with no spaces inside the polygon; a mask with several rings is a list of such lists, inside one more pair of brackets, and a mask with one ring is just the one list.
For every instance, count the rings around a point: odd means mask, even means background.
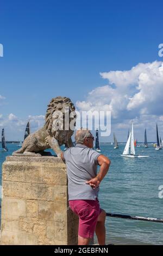
[{"label": "blue-green sea water behind the man and pedestal", "polygon": [[[8,152],[0,151],[0,185],[5,157],[18,149],[17,144],[7,147]],[[159,197],[159,187],[163,186],[163,149],[155,150],[152,144],[143,148],[140,144],[135,148],[136,154],[149,157],[128,159],[121,156],[124,147],[124,143],[118,149],[111,144],[101,145],[101,153],[111,160],[100,185],[101,208],[110,214],[163,218],[163,198]],[[106,217],[105,227],[107,244],[163,245],[163,223]]]}]

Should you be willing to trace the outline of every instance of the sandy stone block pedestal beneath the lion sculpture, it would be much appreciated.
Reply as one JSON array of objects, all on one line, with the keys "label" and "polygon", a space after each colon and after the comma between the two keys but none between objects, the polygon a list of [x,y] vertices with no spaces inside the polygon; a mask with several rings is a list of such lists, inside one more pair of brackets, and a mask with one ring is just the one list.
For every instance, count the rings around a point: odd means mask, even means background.
[{"label": "sandy stone block pedestal beneath the lion sculpture", "polygon": [[78,217],[67,210],[61,159],[8,156],[2,187],[1,245],[77,245]]}]

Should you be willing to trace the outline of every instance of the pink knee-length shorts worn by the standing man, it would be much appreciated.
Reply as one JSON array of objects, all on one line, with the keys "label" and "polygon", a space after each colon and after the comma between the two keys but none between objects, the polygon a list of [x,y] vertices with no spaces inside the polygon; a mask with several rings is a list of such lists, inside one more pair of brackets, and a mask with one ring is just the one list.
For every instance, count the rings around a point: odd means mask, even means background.
[{"label": "pink knee-length shorts worn by the standing man", "polygon": [[78,235],[84,238],[93,238],[97,219],[102,209],[96,200],[70,200],[71,210],[79,216]]}]

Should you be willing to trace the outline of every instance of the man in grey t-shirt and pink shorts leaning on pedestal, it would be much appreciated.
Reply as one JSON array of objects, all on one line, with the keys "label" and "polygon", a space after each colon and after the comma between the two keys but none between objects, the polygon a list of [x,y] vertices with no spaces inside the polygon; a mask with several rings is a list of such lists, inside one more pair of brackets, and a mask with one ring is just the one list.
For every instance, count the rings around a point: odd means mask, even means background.
[{"label": "man in grey t-shirt and pink shorts leaning on pedestal", "polygon": [[98,191],[110,160],[92,149],[94,137],[89,130],[78,130],[75,139],[76,146],[62,152],[61,158],[67,167],[69,205],[79,216],[78,245],[89,245],[95,231],[99,245],[105,245],[106,213],[99,208]]}]

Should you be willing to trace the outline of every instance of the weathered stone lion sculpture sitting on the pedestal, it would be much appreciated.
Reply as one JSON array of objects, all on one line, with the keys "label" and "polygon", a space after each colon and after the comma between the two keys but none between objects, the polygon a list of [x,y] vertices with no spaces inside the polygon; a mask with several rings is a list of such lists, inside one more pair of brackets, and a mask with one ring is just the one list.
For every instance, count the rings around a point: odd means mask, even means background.
[{"label": "weathered stone lion sculpture sitting on the pedestal", "polygon": [[[68,124],[65,122],[67,116]],[[47,108],[45,125],[40,130],[30,134],[24,140],[22,148],[16,150],[12,155],[41,156],[43,150],[52,148],[60,157],[62,144],[65,144],[67,148],[73,147],[71,139],[73,130],[70,129],[70,123],[76,126],[76,117],[75,107],[68,97],[53,98]],[[67,125],[68,129],[65,127]]]}]

